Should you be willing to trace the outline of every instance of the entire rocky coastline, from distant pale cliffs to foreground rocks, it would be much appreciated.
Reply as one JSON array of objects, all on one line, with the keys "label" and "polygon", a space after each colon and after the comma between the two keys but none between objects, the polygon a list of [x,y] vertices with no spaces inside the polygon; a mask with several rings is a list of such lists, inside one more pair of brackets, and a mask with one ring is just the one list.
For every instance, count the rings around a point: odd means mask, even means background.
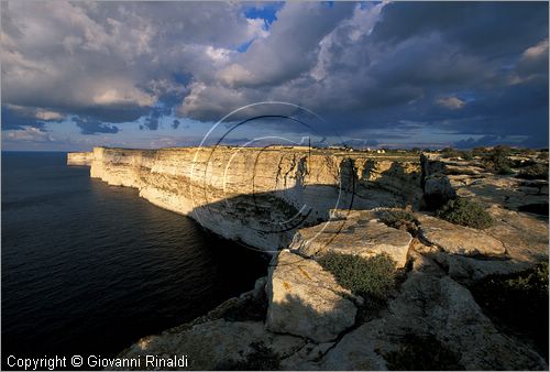
[{"label": "entire rocky coastline, from distant pale cliffs to foreground rocks", "polygon": [[[517,164],[548,166],[538,155]],[[421,358],[441,369],[548,370],[548,355],[473,289],[548,262],[548,214],[532,214],[548,210],[548,179],[496,174],[475,156],[305,147],[96,147],[68,157],[84,163],[91,177],[273,255],[252,291],[120,358],[186,354],[195,370],[392,370],[425,344]],[[455,198],[475,200],[493,225],[452,223],[431,208]],[[330,254],[386,255],[395,284],[383,302],[359,295],[322,265]]]}]

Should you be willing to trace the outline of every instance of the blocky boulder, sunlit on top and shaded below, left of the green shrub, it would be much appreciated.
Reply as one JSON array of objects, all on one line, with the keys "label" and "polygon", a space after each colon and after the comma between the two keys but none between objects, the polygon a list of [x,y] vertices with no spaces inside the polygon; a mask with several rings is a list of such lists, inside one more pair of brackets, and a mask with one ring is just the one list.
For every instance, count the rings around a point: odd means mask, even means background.
[{"label": "blocky boulder, sunlit on top and shaded below, left of the green shrub", "polygon": [[287,250],[274,262],[266,288],[268,330],[327,342],[353,326],[356,307],[346,298],[351,293],[332,274]]}]

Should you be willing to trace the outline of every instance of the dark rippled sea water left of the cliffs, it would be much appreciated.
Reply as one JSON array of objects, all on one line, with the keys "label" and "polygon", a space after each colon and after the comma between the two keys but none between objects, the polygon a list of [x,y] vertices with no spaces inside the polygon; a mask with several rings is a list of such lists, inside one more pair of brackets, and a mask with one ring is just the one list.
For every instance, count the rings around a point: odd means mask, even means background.
[{"label": "dark rippled sea water left of the cliffs", "polygon": [[113,357],[253,288],[267,258],[67,166],[66,153],[1,155],[2,365]]}]

